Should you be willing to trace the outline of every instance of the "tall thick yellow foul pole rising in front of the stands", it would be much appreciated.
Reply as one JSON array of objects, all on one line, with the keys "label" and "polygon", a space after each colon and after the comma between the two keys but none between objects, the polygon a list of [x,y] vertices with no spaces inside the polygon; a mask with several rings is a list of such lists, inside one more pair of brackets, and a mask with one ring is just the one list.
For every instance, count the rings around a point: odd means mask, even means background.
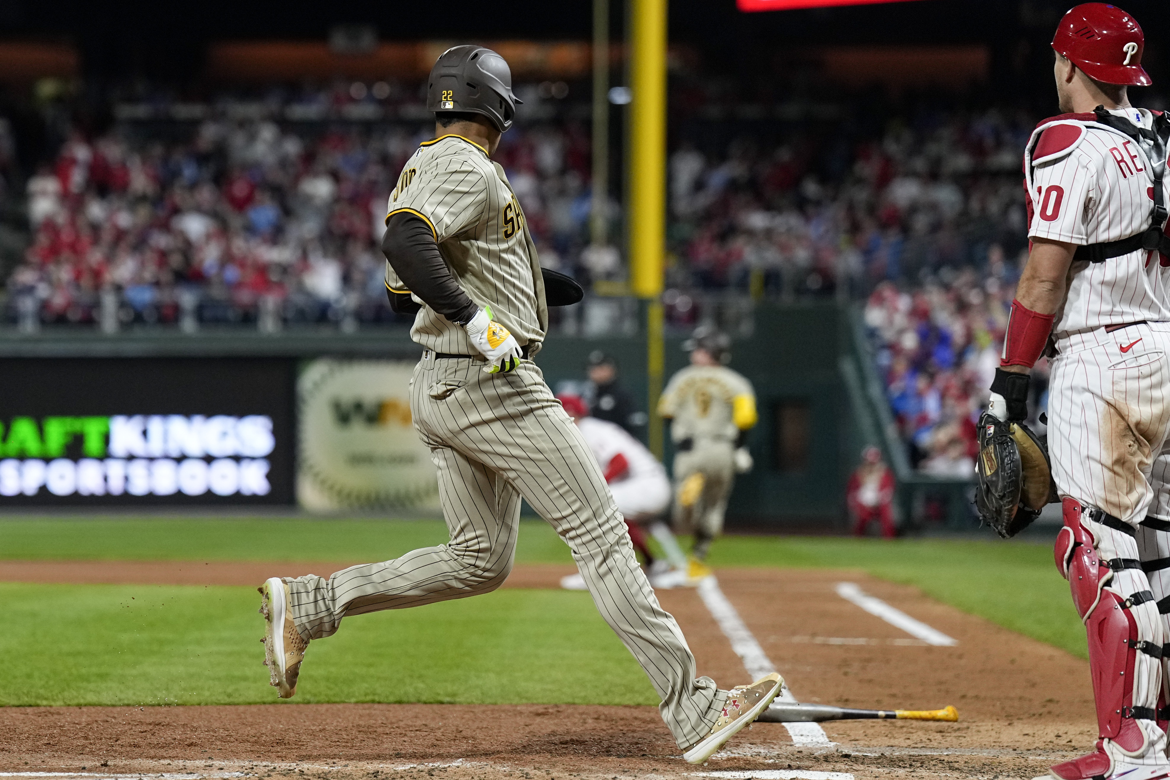
[{"label": "tall thick yellow foul pole rising in front of the stands", "polygon": [[646,305],[651,451],[662,457],[662,256],[666,244],[667,0],[633,0],[629,88],[629,287]]}]

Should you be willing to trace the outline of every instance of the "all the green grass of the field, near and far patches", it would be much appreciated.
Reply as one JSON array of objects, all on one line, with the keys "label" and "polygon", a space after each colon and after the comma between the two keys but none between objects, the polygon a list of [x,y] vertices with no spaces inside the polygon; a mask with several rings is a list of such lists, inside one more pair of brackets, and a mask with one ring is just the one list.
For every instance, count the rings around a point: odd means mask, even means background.
[{"label": "all the green grass of the field, near and far patches", "polygon": [[[0,520],[0,559],[371,560],[446,538],[438,520],[20,518]],[[539,520],[523,523],[516,559],[571,562]],[[860,570],[1086,657],[1047,544],[727,537],[710,562]],[[248,588],[0,585],[0,704],[269,700],[255,599]],[[585,594],[501,591],[367,615],[309,658],[298,700],[653,699]],[[601,690],[603,669],[620,684]]]}]

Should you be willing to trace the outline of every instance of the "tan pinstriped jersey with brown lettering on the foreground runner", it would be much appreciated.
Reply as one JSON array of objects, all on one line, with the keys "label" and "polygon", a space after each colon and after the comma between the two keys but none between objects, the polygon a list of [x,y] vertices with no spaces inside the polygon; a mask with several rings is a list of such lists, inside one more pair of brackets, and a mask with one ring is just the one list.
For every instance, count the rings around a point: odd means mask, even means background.
[{"label": "tan pinstriped jersey with brown lettering on the foreground runner", "polygon": [[[427,222],[459,285],[535,356],[549,327],[541,263],[508,177],[487,151],[462,136],[425,141],[402,167],[386,219],[399,212]],[[407,291],[388,261],[386,287]],[[411,337],[435,352],[479,354],[462,325],[425,304]]]}]

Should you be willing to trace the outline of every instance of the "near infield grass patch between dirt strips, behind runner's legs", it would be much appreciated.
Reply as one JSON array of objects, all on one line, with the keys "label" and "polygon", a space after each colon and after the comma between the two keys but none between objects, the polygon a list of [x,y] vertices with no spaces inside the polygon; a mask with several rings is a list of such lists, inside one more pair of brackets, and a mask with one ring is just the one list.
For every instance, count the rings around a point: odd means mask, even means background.
[{"label": "near infield grass patch between dirt strips, behind runner's legs", "polygon": [[[0,705],[253,704],[259,595],[241,587],[0,584]],[[346,621],[297,702],[656,704],[585,593],[497,591]]]}]

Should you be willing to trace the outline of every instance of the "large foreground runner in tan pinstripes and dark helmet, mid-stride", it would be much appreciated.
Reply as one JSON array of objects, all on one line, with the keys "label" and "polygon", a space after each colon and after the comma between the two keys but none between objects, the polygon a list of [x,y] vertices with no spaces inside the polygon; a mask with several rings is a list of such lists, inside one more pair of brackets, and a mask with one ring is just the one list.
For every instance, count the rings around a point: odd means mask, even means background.
[{"label": "large foreground runner in tan pinstripes and dark helmet, mid-stride", "polygon": [[420,306],[425,347],[411,413],[431,448],[450,541],[395,560],[264,582],[270,682],[289,698],[308,644],[342,619],[488,593],[511,570],[521,497],[572,551],[606,622],[646,670],[662,719],[700,762],[780,690],[778,675],[720,690],[695,677],[677,623],[634,559],[601,470],[532,363],[548,327],[545,288],[524,213],[491,161],[516,111],[508,63],[456,46],[431,71],[434,140],[407,160],[383,251],[395,305]]}]

